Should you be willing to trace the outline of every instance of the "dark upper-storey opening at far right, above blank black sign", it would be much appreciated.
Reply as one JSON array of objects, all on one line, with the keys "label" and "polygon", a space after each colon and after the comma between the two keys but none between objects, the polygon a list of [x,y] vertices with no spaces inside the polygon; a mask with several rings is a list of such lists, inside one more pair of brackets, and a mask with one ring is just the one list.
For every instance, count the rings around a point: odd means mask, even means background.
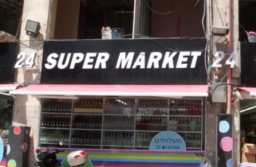
[{"label": "dark upper-storey opening at far right, above blank black sign", "polygon": [[255,7],[255,1],[239,0],[239,41],[248,41],[246,31],[256,31]]}]

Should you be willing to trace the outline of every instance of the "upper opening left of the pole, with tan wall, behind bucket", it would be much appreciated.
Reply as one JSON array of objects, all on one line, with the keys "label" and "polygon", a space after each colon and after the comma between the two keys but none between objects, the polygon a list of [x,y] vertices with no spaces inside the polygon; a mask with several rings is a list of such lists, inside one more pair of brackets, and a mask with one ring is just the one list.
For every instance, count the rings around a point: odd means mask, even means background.
[{"label": "upper opening left of the pole, with tan wall, behind bucket", "polygon": [[[132,34],[134,0],[62,0],[51,3],[49,39],[102,39],[102,27]],[[55,16],[55,17],[54,17]]]}]

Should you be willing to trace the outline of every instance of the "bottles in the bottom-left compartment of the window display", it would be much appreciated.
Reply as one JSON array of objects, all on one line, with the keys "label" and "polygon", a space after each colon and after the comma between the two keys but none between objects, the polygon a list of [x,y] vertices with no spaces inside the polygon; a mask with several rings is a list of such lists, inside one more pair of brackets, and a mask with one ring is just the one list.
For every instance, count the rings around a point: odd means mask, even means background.
[{"label": "bottles in the bottom-left compartment of the window display", "polygon": [[69,132],[67,131],[42,131],[40,133],[40,142],[46,143],[69,143]]}]

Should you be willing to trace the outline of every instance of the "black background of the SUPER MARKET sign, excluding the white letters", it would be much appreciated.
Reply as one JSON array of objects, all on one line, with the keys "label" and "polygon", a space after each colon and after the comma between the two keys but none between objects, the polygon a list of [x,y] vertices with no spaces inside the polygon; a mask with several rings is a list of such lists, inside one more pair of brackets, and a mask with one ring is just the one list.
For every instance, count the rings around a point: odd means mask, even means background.
[{"label": "black background of the SUPER MARKET sign, excluding the white letters", "polygon": [[[41,84],[207,84],[207,74],[205,69],[205,38],[164,38],[164,39],[95,39],[95,40],[49,40],[44,41],[44,53],[42,60]],[[173,57],[173,68],[161,68],[166,52],[177,51]],[[201,52],[197,57],[195,68],[191,68],[192,56],[187,58],[186,68],[176,68],[180,52]],[[135,63],[138,55],[145,52],[145,68],[116,69],[116,64],[121,52],[134,52],[132,64]],[[152,52],[162,53],[159,61],[159,68],[146,68],[149,55]],[[57,65],[52,69],[47,69],[50,54],[56,53],[109,53],[106,69],[83,69],[83,63],[78,63],[73,69],[69,65],[65,69],[59,69]],[[189,53],[189,54],[190,54]],[[65,57],[66,58],[66,57]],[[56,58],[58,61],[59,57]],[[65,59],[64,59],[65,61]],[[95,67],[96,58],[92,64]],[[126,66],[127,67],[127,66]]]}]

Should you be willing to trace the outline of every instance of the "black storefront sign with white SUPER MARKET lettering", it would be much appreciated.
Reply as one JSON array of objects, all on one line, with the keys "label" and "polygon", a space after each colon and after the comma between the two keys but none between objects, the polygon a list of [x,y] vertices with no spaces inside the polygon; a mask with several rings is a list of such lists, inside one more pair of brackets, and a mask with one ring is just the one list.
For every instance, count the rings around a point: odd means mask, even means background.
[{"label": "black storefront sign with white SUPER MARKET lettering", "polygon": [[206,84],[205,46],[204,38],[45,41],[40,82]]}]

